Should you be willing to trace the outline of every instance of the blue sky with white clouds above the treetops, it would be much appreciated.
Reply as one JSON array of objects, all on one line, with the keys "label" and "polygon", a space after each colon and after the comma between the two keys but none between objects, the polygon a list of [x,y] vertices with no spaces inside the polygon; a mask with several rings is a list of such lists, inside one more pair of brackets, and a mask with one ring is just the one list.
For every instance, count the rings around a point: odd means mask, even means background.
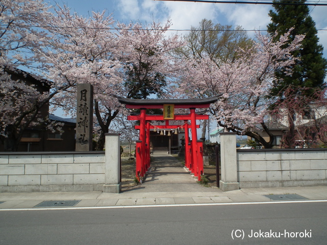
[{"label": "blue sky with white clouds above the treetops", "polygon": [[[246,0],[245,0],[246,1]],[[211,19],[215,23],[230,24],[233,27],[242,26],[245,30],[266,30],[270,22],[268,16],[270,5],[253,4],[211,4],[192,2],[166,2],[153,0],[62,0],[56,1],[60,5],[65,3],[72,11],[84,16],[90,11],[113,13],[113,18],[120,22],[131,21],[151,22],[152,20],[165,22],[172,19],[172,29],[185,30],[197,26],[203,18]],[[319,2],[317,0],[317,2]],[[55,1],[51,0],[51,4]],[[316,22],[317,29],[327,30],[327,6],[311,6],[310,15]],[[179,31],[186,34],[185,31]],[[253,36],[253,32],[248,32]],[[318,31],[320,43],[324,46],[324,57],[327,57],[327,31]]]}]

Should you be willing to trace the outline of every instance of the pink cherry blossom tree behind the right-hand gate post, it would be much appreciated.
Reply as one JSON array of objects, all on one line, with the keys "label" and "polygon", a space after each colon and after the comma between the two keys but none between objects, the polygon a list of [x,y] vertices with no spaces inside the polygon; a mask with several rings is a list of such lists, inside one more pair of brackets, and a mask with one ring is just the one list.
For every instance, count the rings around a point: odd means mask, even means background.
[{"label": "pink cherry blossom tree behind the right-hand gate post", "polygon": [[[288,41],[287,33],[272,42],[268,36],[258,33],[252,47],[239,51],[239,57],[221,62],[211,57],[190,60],[179,91],[186,96],[194,94],[222,94],[211,108],[218,124],[228,131],[248,135],[271,148],[273,135],[266,123],[270,118],[267,98],[274,71],[288,67],[294,62],[290,52],[300,47],[303,36],[297,36],[288,48],[282,48]],[[266,141],[256,130],[261,124],[269,135]]]}]

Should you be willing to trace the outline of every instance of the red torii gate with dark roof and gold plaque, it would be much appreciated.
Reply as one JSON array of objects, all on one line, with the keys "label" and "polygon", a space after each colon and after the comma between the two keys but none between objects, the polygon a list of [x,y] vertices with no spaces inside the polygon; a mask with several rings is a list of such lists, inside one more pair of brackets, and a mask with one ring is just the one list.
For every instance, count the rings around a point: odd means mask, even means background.
[{"label": "red torii gate with dark roof and gold plaque", "polygon": [[[191,170],[194,176],[200,180],[203,174],[203,145],[201,140],[197,140],[196,120],[209,119],[208,115],[198,115],[196,108],[208,108],[211,103],[218,100],[220,95],[205,99],[125,99],[119,98],[119,102],[129,109],[141,109],[141,114],[130,115],[128,120],[139,120],[139,140],[136,141],[136,178],[145,175],[150,167],[150,129],[177,129],[183,127],[185,130],[185,167]],[[190,114],[175,115],[175,108],[190,109]],[[164,109],[163,115],[147,115],[146,109]],[[165,120],[166,125],[154,126],[147,121]],[[184,125],[169,125],[169,120],[184,120]],[[191,127],[188,121],[191,121]],[[192,141],[189,142],[189,128],[192,131]],[[191,143],[191,144],[190,144]]]}]

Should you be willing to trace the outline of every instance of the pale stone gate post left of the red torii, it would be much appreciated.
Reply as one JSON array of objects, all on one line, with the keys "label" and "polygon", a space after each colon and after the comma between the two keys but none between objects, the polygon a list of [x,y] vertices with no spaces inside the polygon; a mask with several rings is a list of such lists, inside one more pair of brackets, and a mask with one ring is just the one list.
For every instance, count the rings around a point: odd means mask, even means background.
[{"label": "pale stone gate post left of the red torii", "polygon": [[120,193],[122,189],[120,134],[107,133],[105,137],[105,183],[103,192]]}]

